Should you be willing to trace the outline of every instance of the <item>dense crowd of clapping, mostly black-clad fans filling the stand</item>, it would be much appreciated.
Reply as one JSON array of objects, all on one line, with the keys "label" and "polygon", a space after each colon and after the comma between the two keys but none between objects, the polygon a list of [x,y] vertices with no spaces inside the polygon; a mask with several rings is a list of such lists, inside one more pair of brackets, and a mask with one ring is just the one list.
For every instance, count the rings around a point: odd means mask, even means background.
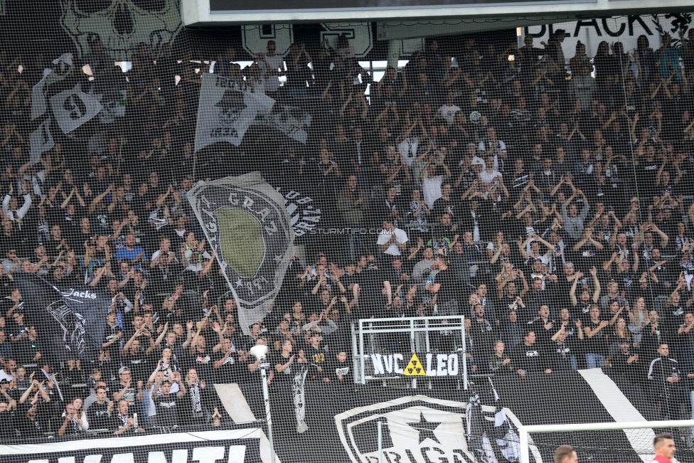
[{"label": "dense crowd of clapping, mostly black-clad fans filling the stand", "polygon": [[[594,57],[580,43],[565,57],[561,30],[542,48],[531,36],[521,48],[429,40],[378,82],[345,38],[285,56],[270,41],[243,69],[233,48],[206,68],[167,47],[155,64],[143,46],[127,74],[95,41],[80,63],[91,78],[77,66],[64,85],[122,88],[126,115],[85,124],[38,164],[43,57],[4,55],[0,438],[220,425],[213,383],[260,381],[257,344],[270,347],[271,394],[302,364],[340,388],[353,383],[351,321],[371,317],[462,314],[471,373],[604,367],[665,404],[663,417],[689,413],[692,31],[681,47],[642,36]],[[193,153],[210,71],[308,112],[308,142],[252,126],[240,147]],[[244,169],[292,179],[334,211],[250,336],[186,200]],[[18,272],[110,294],[97,364],[55,360]],[[445,334],[433,346],[462,347]]]}]

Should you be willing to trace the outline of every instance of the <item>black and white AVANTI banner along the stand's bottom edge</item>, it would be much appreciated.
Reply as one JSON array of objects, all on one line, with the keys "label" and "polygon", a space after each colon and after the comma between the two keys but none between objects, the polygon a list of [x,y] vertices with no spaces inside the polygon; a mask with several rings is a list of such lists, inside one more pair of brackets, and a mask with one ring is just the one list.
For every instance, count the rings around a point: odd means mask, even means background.
[{"label": "black and white AVANTI banner along the stand's bottom edge", "polygon": [[0,445],[3,463],[261,463],[260,429]]}]

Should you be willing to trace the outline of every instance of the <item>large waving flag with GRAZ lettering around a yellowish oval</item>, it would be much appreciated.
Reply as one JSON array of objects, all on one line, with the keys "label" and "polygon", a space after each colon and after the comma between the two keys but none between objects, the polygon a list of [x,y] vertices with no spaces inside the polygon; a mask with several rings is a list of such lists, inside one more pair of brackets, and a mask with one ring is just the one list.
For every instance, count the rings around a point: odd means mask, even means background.
[{"label": "large waving flag with GRAZ lettering around a yellowish oval", "polygon": [[284,198],[259,172],[201,183],[187,196],[239,305],[241,327],[250,334],[293,257]]}]

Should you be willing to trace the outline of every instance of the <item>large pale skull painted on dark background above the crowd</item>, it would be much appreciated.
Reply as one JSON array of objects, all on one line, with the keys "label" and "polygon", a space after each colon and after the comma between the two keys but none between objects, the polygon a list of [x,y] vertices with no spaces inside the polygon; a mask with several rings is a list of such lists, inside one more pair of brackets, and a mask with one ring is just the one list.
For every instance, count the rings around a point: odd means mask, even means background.
[{"label": "large pale skull painted on dark background above the crowd", "polygon": [[60,24],[85,56],[97,38],[113,60],[129,60],[141,43],[153,56],[181,31],[179,0],[60,0]]}]

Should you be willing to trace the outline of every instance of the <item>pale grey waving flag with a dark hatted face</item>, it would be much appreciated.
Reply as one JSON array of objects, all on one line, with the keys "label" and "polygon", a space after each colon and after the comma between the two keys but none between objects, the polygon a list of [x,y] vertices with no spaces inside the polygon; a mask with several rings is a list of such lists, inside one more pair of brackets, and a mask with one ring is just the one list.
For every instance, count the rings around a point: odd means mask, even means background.
[{"label": "pale grey waving flag with a dark hatted face", "polygon": [[234,80],[203,74],[195,151],[217,142],[240,145],[258,112],[267,112],[272,105],[274,100],[265,93],[242,90]]}]

